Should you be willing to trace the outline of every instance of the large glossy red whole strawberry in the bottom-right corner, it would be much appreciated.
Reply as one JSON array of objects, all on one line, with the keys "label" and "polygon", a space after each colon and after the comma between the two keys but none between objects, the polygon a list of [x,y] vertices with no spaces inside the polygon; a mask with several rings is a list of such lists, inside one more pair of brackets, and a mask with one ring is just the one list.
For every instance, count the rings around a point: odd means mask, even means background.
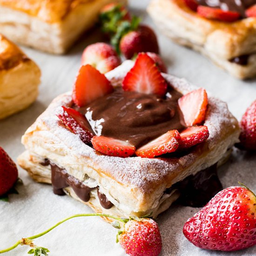
[{"label": "large glossy red whole strawberry in the bottom-right corner", "polygon": [[256,196],[245,187],[219,192],[183,227],[183,234],[202,249],[235,251],[256,244]]}]

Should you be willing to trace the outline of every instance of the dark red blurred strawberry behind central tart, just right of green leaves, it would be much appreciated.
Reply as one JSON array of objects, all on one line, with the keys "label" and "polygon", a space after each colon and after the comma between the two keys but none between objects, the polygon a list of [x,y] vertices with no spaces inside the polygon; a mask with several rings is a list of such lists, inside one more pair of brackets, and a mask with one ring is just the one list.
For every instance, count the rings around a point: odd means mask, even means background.
[{"label": "dark red blurred strawberry behind central tart, just right of green leaves", "polygon": [[148,26],[140,25],[136,31],[131,31],[122,37],[120,51],[127,59],[141,52],[158,54],[159,47],[155,32]]}]

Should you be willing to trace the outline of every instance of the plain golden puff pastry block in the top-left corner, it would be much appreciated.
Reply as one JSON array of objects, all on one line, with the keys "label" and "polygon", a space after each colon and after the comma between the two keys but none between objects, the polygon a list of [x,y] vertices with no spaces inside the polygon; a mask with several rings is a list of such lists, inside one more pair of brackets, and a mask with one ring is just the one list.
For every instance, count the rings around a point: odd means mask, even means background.
[{"label": "plain golden puff pastry block in the top-left corner", "polygon": [[0,0],[0,31],[23,45],[63,54],[110,2],[126,0]]}]

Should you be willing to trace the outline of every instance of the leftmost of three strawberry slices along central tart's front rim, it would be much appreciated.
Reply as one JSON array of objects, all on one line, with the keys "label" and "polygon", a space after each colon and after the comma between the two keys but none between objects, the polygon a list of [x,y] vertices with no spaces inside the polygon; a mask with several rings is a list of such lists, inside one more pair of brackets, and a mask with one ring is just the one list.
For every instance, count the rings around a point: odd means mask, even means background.
[{"label": "leftmost of three strawberry slices along central tart's front rim", "polygon": [[95,150],[105,155],[129,157],[135,152],[135,147],[129,142],[105,136],[94,136],[92,144]]}]

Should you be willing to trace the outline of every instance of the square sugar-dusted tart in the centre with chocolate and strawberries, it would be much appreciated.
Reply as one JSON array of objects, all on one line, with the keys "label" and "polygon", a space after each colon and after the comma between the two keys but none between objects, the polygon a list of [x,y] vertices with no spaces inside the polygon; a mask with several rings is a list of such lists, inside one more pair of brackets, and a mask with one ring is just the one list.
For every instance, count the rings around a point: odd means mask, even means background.
[{"label": "square sugar-dusted tart in the centre with chocolate and strawberries", "polygon": [[[226,103],[161,74],[147,54],[106,77],[82,66],[73,93],[55,98],[27,129],[18,162],[96,212],[156,217],[195,177],[199,184],[216,175],[212,166],[238,140],[238,123]],[[219,183],[207,186],[213,193]]]}]

